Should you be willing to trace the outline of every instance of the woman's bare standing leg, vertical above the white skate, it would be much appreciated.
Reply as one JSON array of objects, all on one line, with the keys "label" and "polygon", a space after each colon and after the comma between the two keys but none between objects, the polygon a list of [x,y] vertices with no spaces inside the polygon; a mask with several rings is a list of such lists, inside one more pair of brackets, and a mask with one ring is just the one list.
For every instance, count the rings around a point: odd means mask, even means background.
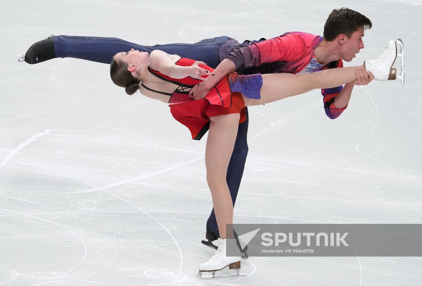
[{"label": "woman's bare standing leg, vertical above the white skate", "polygon": [[233,223],[233,202],[226,174],[233,153],[239,118],[238,113],[210,117],[205,150],[207,182],[221,238],[233,238],[233,234],[227,234],[226,237],[226,224]]}]

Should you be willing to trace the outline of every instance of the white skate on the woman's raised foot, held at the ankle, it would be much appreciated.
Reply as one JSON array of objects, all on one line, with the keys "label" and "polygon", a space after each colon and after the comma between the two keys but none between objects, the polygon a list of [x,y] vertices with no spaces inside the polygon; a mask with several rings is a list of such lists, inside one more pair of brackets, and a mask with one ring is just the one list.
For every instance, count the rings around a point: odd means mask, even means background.
[{"label": "white skate on the woman's raised foot, held at the ankle", "polygon": [[[397,45],[400,46],[400,53],[397,52]],[[393,68],[396,57],[401,58],[401,73],[397,75],[397,69]],[[397,39],[396,41],[389,41],[384,52],[374,60],[365,60],[365,68],[371,71],[376,80],[395,80],[399,78],[401,84],[404,85],[404,53],[403,41]]]}]

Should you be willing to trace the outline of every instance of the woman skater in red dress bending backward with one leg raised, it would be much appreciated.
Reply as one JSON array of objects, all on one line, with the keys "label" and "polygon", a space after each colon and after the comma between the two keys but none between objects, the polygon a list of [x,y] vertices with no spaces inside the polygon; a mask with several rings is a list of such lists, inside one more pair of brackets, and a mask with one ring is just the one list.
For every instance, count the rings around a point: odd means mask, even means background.
[{"label": "woman skater in red dress bending backward with one leg raised", "polygon": [[[233,233],[226,233],[225,227],[233,223],[233,204],[226,173],[238,125],[245,120],[245,106],[267,104],[314,89],[337,87],[363,77],[364,69],[371,79],[373,74],[369,71],[382,74],[387,68],[387,74],[391,74],[390,67],[396,56],[396,42],[390,41],[380,57],[365,61],[361,66],[296,75],[239,76],[232,73],[223,78],[205,99],[196,101],[189,97],[189,90],[208,76],[214,76],[214,70],[205,63],[160,50],[148,54],[131,49],[113,57],[111,79],[116,85],[125,87],[127,94],[132,95],[139,89],[149,98],[170,104],[173,117],[189,128],[192,139],[200,139],[209,128],[205,151],[206,178],[220,238],[217,241],[218,250],[210,260],[199,265],[198,274],[216,272],[229,266],[237,270],[236,274],[220,277],[240,275],[240,256],[226,256],[226,242],[233,240]],[[376,76],[375,79],[387,80],[385,76]]]}]

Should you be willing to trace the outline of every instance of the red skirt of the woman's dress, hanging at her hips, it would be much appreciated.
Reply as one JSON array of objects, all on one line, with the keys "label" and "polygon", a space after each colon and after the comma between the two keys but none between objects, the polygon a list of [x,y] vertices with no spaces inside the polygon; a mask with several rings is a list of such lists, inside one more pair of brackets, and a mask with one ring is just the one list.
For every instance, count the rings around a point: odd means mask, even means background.
[{"label": "red skirt of the woman's dress, hanging at her hips", "polygon": [[230,90],[227,76],[204,99],[193,100],[189,94],[173,93],[169,104],[174,119],[189,128],[194,140],[200,140],[208,131],[209,117],[240,113],[239,124],[246,120],[242,94]]}]

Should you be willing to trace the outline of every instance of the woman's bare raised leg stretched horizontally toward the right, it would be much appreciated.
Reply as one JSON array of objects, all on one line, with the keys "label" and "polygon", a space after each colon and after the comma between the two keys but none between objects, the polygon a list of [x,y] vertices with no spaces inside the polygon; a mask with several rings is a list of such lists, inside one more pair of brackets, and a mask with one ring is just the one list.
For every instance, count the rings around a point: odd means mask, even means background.
[{"label": "woman's bare raised leg stretched horizontally toward the right", "polygon": [[338,87],[356,80],[356,68],[365,67],[332,68],[311,74],[263,74],[261,98],[243,96],[243,100],[246,106],[260,105],[318,88]]}]

